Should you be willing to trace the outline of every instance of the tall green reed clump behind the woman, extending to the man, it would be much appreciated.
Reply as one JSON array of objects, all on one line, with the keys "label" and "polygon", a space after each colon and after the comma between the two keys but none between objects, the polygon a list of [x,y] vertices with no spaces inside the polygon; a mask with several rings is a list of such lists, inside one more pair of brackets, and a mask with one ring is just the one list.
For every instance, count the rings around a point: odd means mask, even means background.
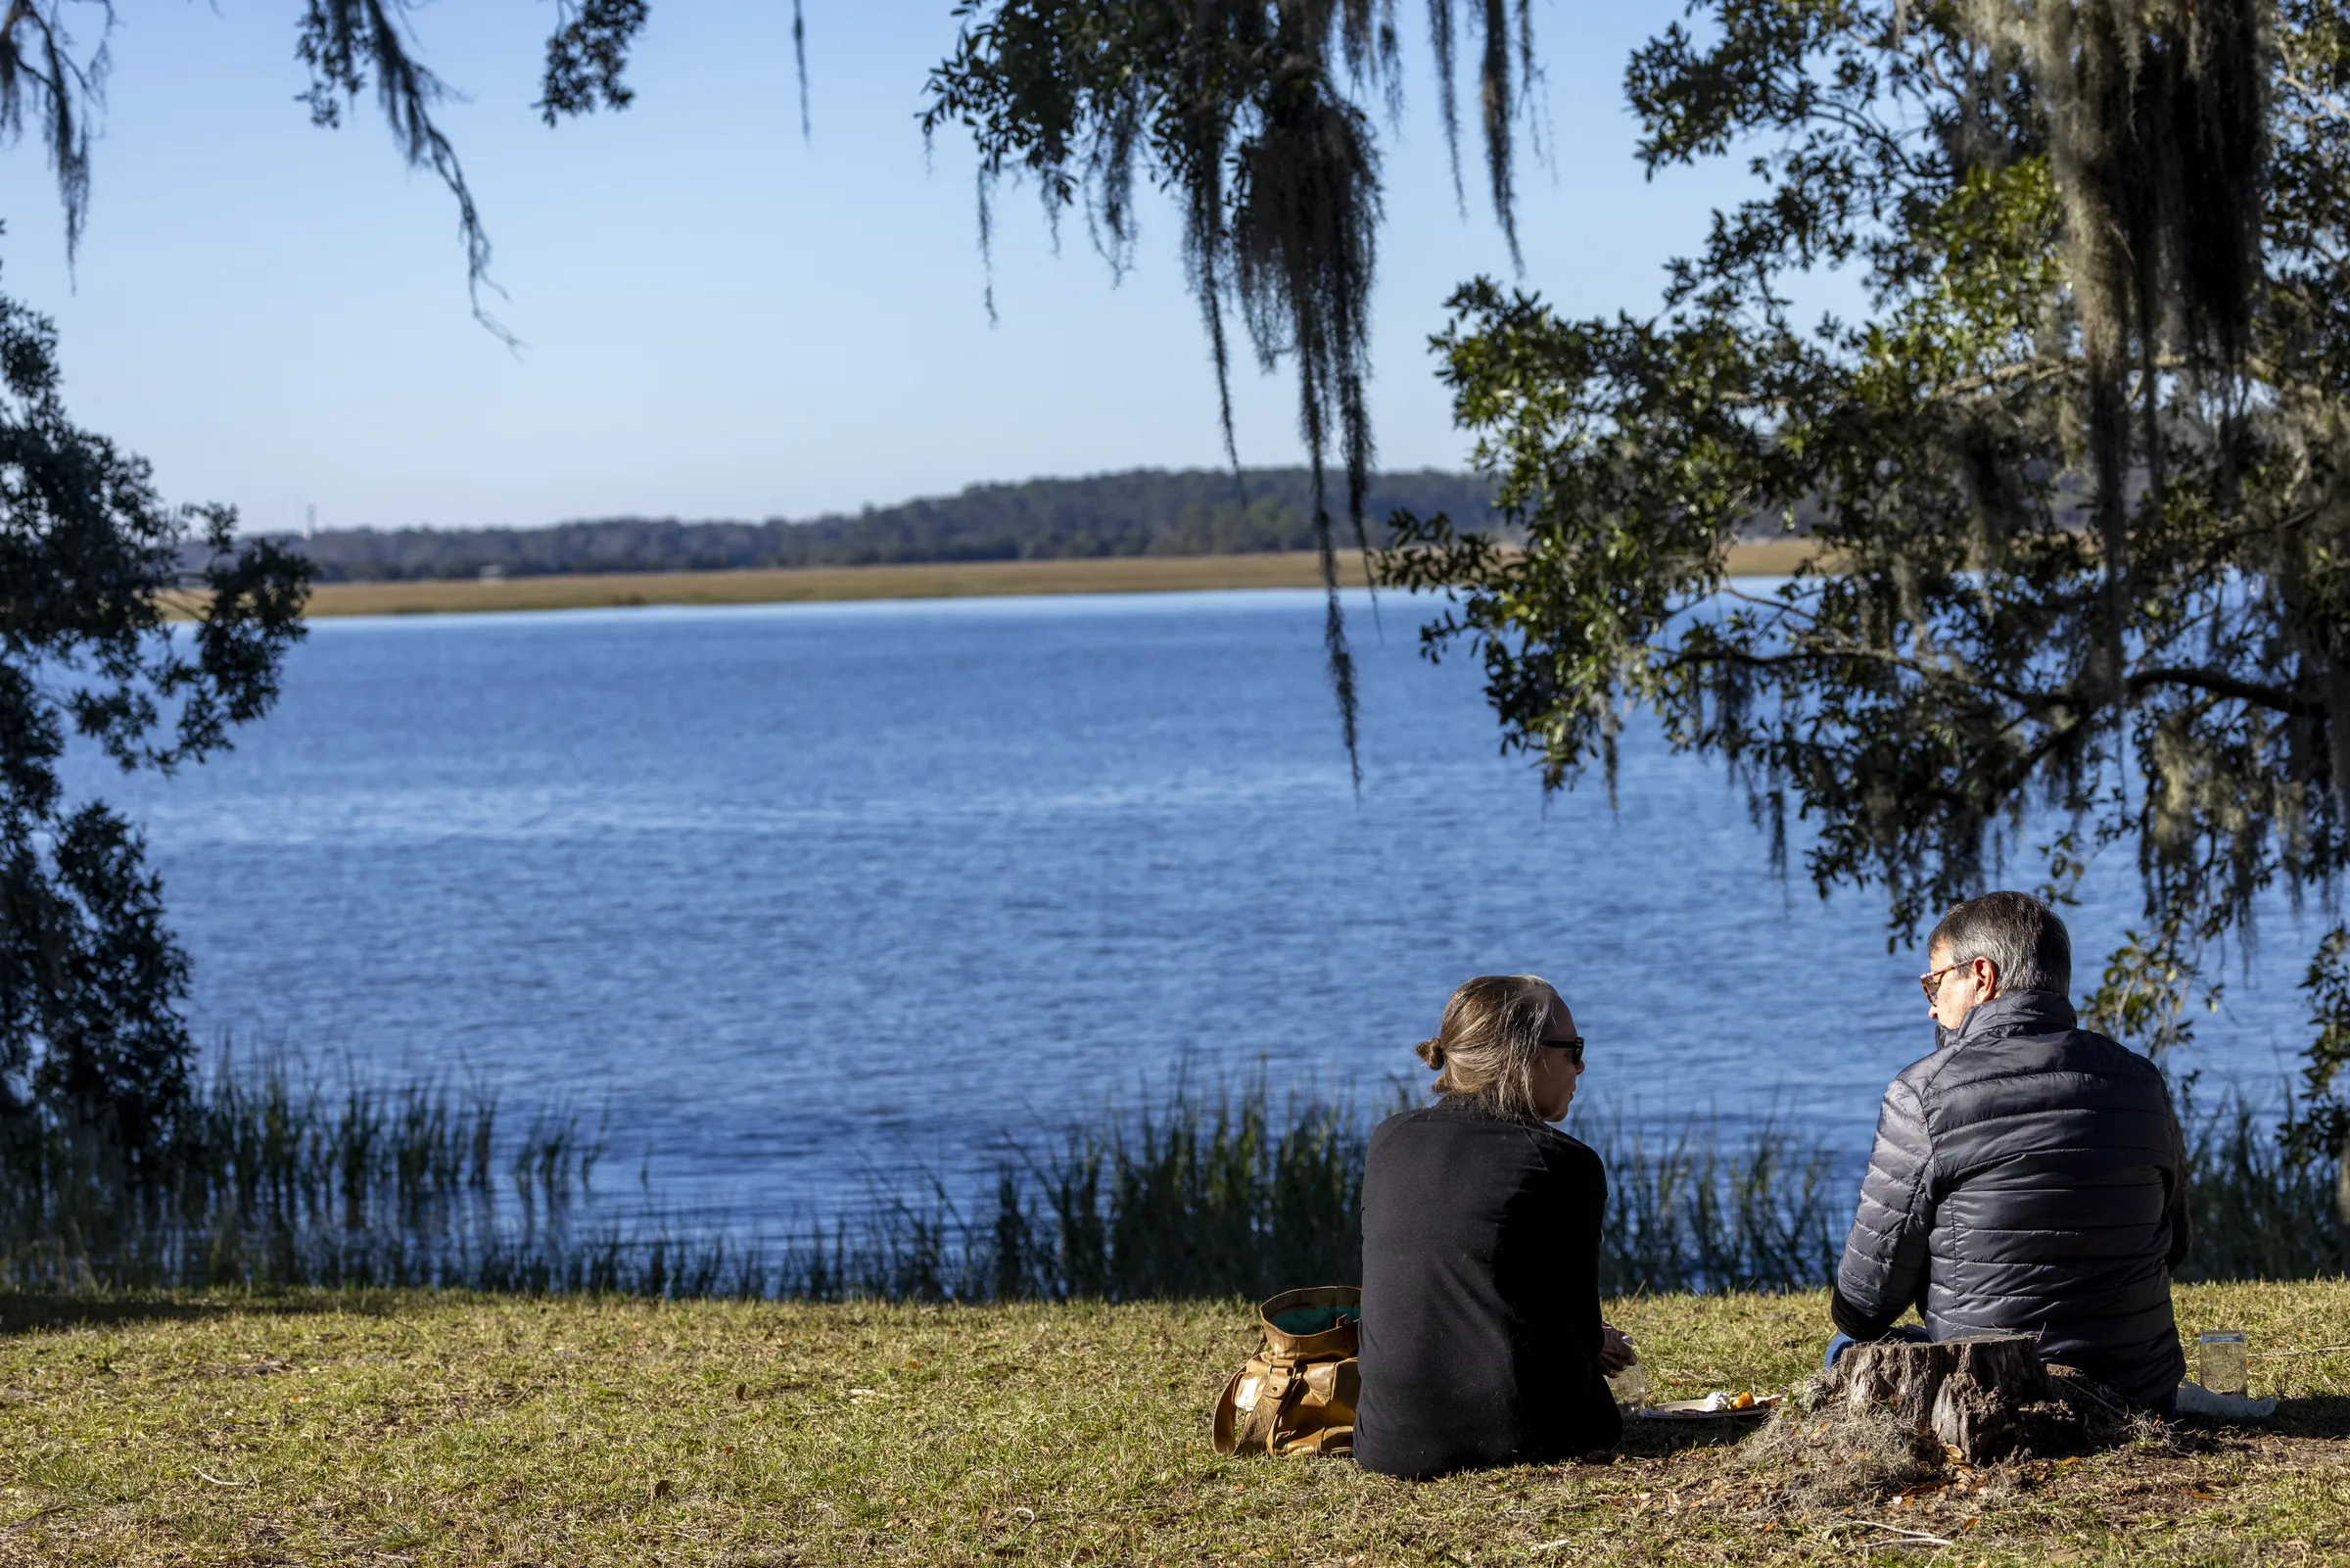
[{"label": "tall green reed clump behind the woman, extending to the man", "polygon": [[[1368,1119],[1323,1103],[1276,1112],[1262,1081],[1215,1100],[1177,1093],[1048,1152],[1013,1150],[971,1211],[938,1178],[919,1199],[886,1197],[860,1232],[794,1248],[780,1286],[1152,1300],[1356,1281],[1368,1133]],[[1664,1145],[1617,1124],[1586,1140],[1610,1173],[1603,1291],[1795,1291],[1833,1272],[1852,1201],[1826,1150],[1772,1128],[1730,1145],[1711,1124]]]}]

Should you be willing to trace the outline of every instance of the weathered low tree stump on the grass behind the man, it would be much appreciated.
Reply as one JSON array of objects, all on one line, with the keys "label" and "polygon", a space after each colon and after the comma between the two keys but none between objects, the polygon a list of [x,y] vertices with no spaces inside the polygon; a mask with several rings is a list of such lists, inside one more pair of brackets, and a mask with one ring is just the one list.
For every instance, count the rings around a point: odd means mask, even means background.
[{"label": "weathered low tree stump on the grass behind the man", "polygon": [[2014,1450],[2023,1408],[2049,1396],[2047,1368],[2026,1333],[1854,1345],[1835,1363],[1831,1387],[1852,1410],[1882,1408],[1918,1432],[1932,1432],[1969,1465]]}]

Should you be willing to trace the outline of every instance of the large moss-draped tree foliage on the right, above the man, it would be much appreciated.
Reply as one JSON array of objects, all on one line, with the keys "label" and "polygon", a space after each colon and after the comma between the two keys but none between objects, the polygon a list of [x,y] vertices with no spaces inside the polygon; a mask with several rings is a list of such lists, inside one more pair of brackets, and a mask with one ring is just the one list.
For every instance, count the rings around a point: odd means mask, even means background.
[{"label": "large moss-draped tree foliage on the right, above the man", "polygon": [[[1650,317],[1464,287],[1443,374],[1528,545],[1405,520],[1384,571],[1452,595],[1429,654],[1483,658],[1549,785],[1612,785],[1647,708],[1896,936],[2042,830],[2054,896],[2134,853],[2096,1009],[2174,1044],[2256,898],[2350,849],[2350,19],[1697,12],[1631,61],[1643,158],[1762,148],[1765,190]],[[1798,320],[1831,266],[1866,310]],[[1798,510],[1805,571],[1725,576]]]}]

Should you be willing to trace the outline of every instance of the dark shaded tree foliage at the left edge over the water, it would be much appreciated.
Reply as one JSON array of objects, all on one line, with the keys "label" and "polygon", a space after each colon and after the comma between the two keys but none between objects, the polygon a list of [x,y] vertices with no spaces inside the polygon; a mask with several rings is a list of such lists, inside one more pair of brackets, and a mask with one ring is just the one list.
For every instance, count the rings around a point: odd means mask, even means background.
[{"label": "dark shaded tree foliage at the left edge over the water", "polygon": [[167,508],[56,383],[49,322],[0,301],[0,1117],[103,1117],[136,1150],[186,1086],[188,966],[136,830],[59,766],[73,736],[125,771],[228,745],[277,696],[308,569],[228,508]]}]

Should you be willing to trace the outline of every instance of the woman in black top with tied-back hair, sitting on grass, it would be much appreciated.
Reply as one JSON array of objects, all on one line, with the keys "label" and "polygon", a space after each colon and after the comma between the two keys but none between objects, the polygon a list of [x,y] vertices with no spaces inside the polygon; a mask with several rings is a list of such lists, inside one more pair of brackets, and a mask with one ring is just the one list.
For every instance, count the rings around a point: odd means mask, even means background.
[{"label": "woman in black top with tied-back hair, sitting on grass", "polygon": [[1445,1006],[1436,1105],[1389,1117],[1363,1166],[1363,1396],[1354,1458],[1389,1476],[1551,1465],[1624,1434],[1600,1321],[1607,1173],[1558,1121],[1584,1072],[1546,980],[1480,976]]}]

